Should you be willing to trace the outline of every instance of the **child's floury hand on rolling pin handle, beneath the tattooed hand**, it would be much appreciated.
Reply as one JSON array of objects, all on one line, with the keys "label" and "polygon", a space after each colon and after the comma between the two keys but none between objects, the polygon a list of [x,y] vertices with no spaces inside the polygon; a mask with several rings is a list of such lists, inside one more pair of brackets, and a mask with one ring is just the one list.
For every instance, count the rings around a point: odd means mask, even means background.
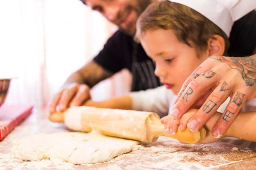
[{"label": "child's floury hand on rolling pin handle, beneath the tattooed hand", "polygon": [[[164,128],[166,130],[169,130],[171,133],[177,132],[178,126],[180,126],[180,130],[183,130],[186,128],[186,125],[188,121],[197,113],[198,109],[189,109],[180,119],[175,119],[171,115],[165,116],[161,119],[162,124],[164,124]],[[217,123],[217,121],[220,119],[221,113],[215,113],[205,124],[205,128],[207,130],[206,138],[200,143],[207,144],[214,141],[218,141],[225,137],[226,134],[224,134],[221,138],[215,138],[211,135],[211,131],[214,127],[214,125]]]}]

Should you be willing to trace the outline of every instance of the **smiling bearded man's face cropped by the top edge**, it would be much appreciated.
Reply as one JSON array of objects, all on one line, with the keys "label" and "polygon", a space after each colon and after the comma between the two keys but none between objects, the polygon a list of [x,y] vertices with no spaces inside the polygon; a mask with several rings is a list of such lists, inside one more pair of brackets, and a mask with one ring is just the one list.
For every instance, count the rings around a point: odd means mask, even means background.
[{"label": "smiling bearded man's face cropped by the top edge", "polygon": [[152,0],[81,0],[99,11],[106,19],[116,24],[129,35],[135,35],[139,15]]}]

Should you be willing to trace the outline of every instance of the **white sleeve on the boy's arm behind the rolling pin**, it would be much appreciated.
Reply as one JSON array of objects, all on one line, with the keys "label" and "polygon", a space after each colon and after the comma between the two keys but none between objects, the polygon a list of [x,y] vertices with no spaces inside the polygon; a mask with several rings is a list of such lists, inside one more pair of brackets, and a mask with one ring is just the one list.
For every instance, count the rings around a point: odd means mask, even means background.
[{"label": "white sleeve on the boy's arm behind the rolling pin", "polygon": [[175,96],[165,86],[160,86],[146,91],[131,92],[132,109],[138,111],[155,112],[160,117],[168,115],[171,99]]}]

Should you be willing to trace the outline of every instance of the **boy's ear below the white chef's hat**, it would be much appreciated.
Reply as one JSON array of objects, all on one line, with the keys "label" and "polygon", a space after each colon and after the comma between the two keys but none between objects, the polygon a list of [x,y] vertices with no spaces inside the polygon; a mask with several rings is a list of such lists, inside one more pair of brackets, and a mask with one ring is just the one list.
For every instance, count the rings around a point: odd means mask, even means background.
[{"label": "boy's ear below the white chef's hat", "polygon": [[213,35],[213,38],[208,40],[209,56],[224,55],[225,41],[220,35]]}]

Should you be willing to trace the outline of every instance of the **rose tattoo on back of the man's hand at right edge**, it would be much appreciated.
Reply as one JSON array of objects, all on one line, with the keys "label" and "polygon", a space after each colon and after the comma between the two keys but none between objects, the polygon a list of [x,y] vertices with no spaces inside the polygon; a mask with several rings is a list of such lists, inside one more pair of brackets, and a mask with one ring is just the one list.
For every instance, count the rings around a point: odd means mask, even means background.
[{"label": "rose tattoo on back of the man's hand at right edge", "polygon": [[256,55],[249,57],[211,56],[209,58],[225,62],[231,68],[240,71],[246,86],[254,86],[256,84]]}]

